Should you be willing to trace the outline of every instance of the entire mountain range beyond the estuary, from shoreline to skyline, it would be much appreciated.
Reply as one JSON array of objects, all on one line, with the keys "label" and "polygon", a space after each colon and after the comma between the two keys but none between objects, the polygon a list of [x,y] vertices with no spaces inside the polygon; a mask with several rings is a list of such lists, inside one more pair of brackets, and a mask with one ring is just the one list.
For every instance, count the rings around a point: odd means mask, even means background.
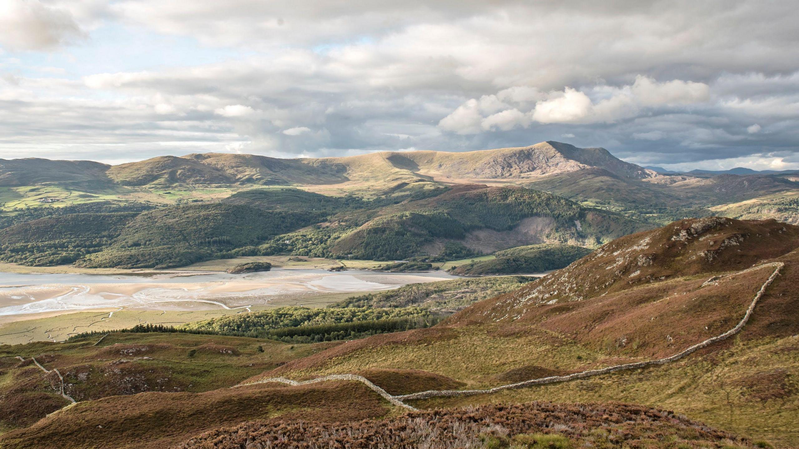
[{"label": "entire mountain range beyond the estuary, from shoreline to skyline", "polygon": [[790,175],[663,175],[556,141],[317,159],[14,159],[0,161],[0,185],[0,260],[38,266],[169,268],[276,254],[447,260],[529,244],[594,248],[718,213],[799,221]]}]

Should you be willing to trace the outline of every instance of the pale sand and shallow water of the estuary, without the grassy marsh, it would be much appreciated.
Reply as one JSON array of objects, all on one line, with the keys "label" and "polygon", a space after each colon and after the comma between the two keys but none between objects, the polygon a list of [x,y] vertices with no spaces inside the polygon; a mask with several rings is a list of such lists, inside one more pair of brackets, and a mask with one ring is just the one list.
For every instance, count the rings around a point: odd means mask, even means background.
[{"label": "pale sand and shallow water of the estuary, without the grassy marsh", "polygon": [[152,275],[0,272],[0,316],[97,308],[197,310],[246,308],[278,296],[374,292],[405,284],[458,279],[445,272],[272,269],[268,272]]}]

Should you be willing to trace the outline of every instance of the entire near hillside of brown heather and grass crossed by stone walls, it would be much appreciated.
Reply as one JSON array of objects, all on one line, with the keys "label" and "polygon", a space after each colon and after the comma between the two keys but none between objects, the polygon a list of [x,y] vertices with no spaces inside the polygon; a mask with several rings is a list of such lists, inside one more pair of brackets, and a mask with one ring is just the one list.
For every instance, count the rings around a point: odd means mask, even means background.
[{"label": "entire near hillside of brown heather and grass crossed by stone walls", "polygon": [[[459,308],[467,305],[462,295],[467,302],[479,300],[485,288],[524,281],[495,284],[494,278],[479,278],[407,286],[351,298],[325,312],[256,312],[201,326],[212,332],[291,325],[295,319],[318,318],[324,324],[337,316],[346,321],[361,314]],[[0,444],[236,447],[237,441],[265,444],[281,438],[280,432],[301,419],[307,435],[363,435],[358,444],[368,447],[383,437],[374,435],[374,422],[360,420],[391,417],[381,421],[388,427],[380,427],[381,435],[390,435],[392,420],[399,419],[398,428],[406,426],[400,411],[407,407],[421,410],[409,415],[420,426],[450,423],[463,429],[463,438],[474,439],[477,427],[455,424],[461,411],[442,409],[506,403],[468,411],[494,415],[507,429],[492,447],[555,439],[597,447],[622,441],[658,447],[667,440],[665,447],[757,442],[787,449],[799,443],[793,375],[799,369],[797,282],[799,228],[708,217],[622,236],[432,328],[296,347],[158,333],[114,333],[96,346],[97,336],[4,347],[0,369],[10,376],[0,384],[0,395],[24,397],[37,407],[33,415],[0,415],[13,428],[0,435]],[[671,360],[686,348],[695,352]],[[59,368],[68,379],[65,391],[80,396],[78,404],[38,419],[68,401],[58,394],[58,377],[32,366],[31,357],[47,369]],[[651,363],[659,358],[665,361]],[[197,369],[201,360],[208,361],[206,369]],[[623,364],[632,365],[608,369]],[[120,380],[133,373],[141,381]],[[328,375],[333,377],[324,380]],[[321,381],[299,382],[307,379]],[[542,384],[527,382],[531,379]],[[236,383],[241,386],[229,388]],[[166,392],[173,387],[181,392]],[[524,405],[533,400],[539,402]],[[547,400],[555,403],[540,402]],[[25,401],[15,401],[14,410],[24,408]],[[559,405],[575,402],[586,404]],[[425,416],[433,420],[417,419]],[[410,433],[401,435],[412,441],[416,425],[404,427]],[[549,436],[536,435],[541,433]]]}]

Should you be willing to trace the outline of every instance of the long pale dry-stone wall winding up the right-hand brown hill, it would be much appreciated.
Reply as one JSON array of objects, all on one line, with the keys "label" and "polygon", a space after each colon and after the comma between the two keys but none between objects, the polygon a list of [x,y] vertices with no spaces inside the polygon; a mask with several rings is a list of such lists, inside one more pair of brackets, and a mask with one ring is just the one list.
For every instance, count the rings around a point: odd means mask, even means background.
[{"label": "long pale dry-stone wall winding up the right-hand brown hill", "polygon": [[410,409],[410,410],[416,410],[415,407],[411,407],[410,405],[408,405],[407,403],[404,403],[403,401],[404,400],[408,400],[408,399],[426,399],[426,398],[431,398],[431,397],[435,397],[435,396],[454,397],[454,396],[467,396],[467,395],[485,395],[485,394],[496,393],[498,391],[509,390],[511,388],[530,387],[532,385],[543,385],[545,383],[566,382],[566,381],[569,381],[569,380],[585,379],[586,377],[592,377],[594,375],[607,374],[607,373],[610,373],[610,372],[617,372],[617,371],[630,370],[630,369],[636,369],[636,368],[645,368],[645,367],[654,366],[654,365],[669,364],[671,362],[675,362],[677,360],[680,360],[683,357],[688,356],[689,354],[698,351],[699,349],[706,348],[707,346],[710,346],[710,344],[714,344],[714,343],[717,343],[717,342],[719,342],[721,340],[725,340],[729,336],[733,336],[733,335],[737,334],[738,332],[741,332],[741,329],[745,326],[746,322],[749,321],[749,317],[752,316],[752,312],[754,311],[754,308],[757,305],[757,301],[759,301],[761,299],[761,297],[763,296],[763,293],[765,293],[765,289],[769,287],[769,285],[777,278],[777,276],[779,276],[780,270],[784,266],[785,266],[785,264],[782,263],[782,262],[771,262],[769,264],[757,265],[756,267],[747,268],[747,269],[742,270],[740,272],[734,272],[734,273],[731,273],[731,274],[728,274],[728,275],[725,275],[725,276],[713,276],[709,280],[707,280],[704,284],[702,284],[702,287],[704,287],[705,285],[708,285],[708,284],[713,284],[713,283],[715,283],[716,281],[720,280],[723,277],[735,276],[735,275],[738,275],[738,274],[743,274],[745,272],[753,272],[755,270],[759,270],[759,269],[765,268],[765,267],[774,267],[774,271],[771,273],[771,276],[769,276],[769,279],[765,280],[765,282],[761,285],[760,290],[757,291],[757,293],[755,294],[752,302],[749,304],[749,308],[746,309],[745,315],[743,316],[743,318],[741,318],[740,321],[738,321],[738,324],[736,324],[734,328],[729,329],[729,331],[724,332],[721,335],[714,336],[714,337],[709,338],[709,339],[707,339],[705,341],[702,341],[701,343],[694,344],[694,346],[691,346],[690,348],[687,348],[686,350],[684,350],[682,352],[678,352],[677,354],[674,354],[674,356],[664,357],[662,359],[648,360],[646,362],[635,362],[635,363],[632,363],[632,364],[614,365],[614,366],[610,366],[610,367],[606,367],[606,368],[599,368],[599,369],[592,369],[592,370],[587,370],[587,371],[583,371],[583,372],[576,372],[576,373],[570,374],[570,375],[551,375],[549,377],[542,377],[542,378],[539,378],[539,379],[524,380],[523,382],[508,383],[507,385],[500,385],[499,387],[488,388],[486,390],[429,390],[429,391],[420,391],[418,393],[411,393],[410,395],[390,395],[390,394],[388,394],[388,391],[385,391],[383,388],[380,388],[377,385],[375,385],[374,383],[370,382],[369,379],[366,379],[363,376],[354,375],[354,374],[325,375],[323,377],[318,377],[316,379],[310,379],[310,380],[304,380],[304,381],[301,381],[301,382],[296,381],[296,380],[292,380],[292,379],[286,379],[284,377],[272,377],[272,378],[269,378],[269,379],[260,379],[260,380],[256,380],[256,381],[253,381],[253,382],[239,383],[237,385],[234,385],[232,388],[244,387],[244,386],[248,386],[248,385],[255,385],[255,384],[258,384],[258,383],[287,383],[288,385],[295,385],[296,386],[296,385],[307,385],[308,383],[326,382],[326,381],[329,381],[329,380],[354,380],[354,381],[357,381],[357,382],[360,382],[360,383],[364,383],[367,387],[372,388],[372,390],[376,391],[377,394],[383,396],[389,402],[391,402],[391,403],[393,403],[393,404],[395,404],[397,406],[405,407],[405,408]]}]

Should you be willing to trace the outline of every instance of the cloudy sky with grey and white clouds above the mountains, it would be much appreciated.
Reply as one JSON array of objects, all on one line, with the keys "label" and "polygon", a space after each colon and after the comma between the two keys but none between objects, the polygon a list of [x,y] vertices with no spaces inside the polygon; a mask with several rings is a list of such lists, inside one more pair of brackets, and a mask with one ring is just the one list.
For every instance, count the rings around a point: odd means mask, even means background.
[{"label": "cloudy sky with grey and white clouds above the mountains", "polygon": [[545,140],[799,169],[799,8],[708,0],[0,0],[0,157]]}]

